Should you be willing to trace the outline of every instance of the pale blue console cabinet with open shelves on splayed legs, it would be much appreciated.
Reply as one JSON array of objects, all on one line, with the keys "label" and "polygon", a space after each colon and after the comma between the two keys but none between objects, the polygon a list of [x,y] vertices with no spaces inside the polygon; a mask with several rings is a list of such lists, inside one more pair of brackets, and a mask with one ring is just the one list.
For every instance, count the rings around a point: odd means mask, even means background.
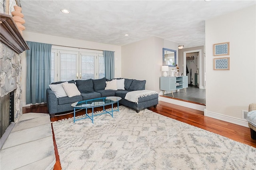
[{"label": "pale blue console cabinet with open shelves on splayed legs", "polygon": [[[178,76],[178,77],[160,77],[160,90],[162,91],[174,91],[179,89],[186,89],[188,87],[188,76]],[[164,94],[163,92],[163,94]],[[172,93],[172,97],[173,93]]]}]

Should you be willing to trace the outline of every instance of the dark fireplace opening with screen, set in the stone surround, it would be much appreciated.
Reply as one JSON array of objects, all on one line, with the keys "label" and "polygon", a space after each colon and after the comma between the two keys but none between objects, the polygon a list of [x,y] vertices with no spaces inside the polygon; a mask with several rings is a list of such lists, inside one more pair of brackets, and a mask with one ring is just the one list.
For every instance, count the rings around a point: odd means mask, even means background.
[{"label": "dark fireplace opening with screen, set in the stone surround", "polygon": [[0,97],[0,135],[4,134],[11,122],[14,122],[14,91]]}]

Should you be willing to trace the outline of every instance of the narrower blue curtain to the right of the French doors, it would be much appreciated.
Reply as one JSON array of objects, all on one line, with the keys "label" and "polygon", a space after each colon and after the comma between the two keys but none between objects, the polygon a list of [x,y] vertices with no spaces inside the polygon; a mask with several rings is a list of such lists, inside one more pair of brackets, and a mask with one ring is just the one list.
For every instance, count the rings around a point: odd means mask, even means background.
[{"label": "narrower blue curtain to the right of the French doors", "polygon": [[115,76],[115,52],[103,51],[106,79],[113,79]]}]

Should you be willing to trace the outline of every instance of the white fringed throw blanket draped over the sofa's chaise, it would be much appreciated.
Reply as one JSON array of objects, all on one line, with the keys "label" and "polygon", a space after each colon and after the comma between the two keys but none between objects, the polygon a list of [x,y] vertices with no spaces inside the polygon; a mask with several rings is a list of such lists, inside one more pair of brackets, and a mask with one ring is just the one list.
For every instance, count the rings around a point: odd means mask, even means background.
[{"label": "white fringed throw blanket draped over the sofa's chaise", "polygon": [[158,93],[152,90],[137,90],[126,93],[124,99],[138,104],[139,97],[146,97],[154,94]]}]

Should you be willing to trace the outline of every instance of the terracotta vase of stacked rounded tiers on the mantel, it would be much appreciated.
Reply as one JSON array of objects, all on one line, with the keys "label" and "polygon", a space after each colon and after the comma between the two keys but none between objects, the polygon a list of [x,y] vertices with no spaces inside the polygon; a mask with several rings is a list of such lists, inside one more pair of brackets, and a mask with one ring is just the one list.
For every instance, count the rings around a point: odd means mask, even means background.
[{"label": "terracotta vase of stacked rounded tiers on the mantel", "polygon": [[25,23],[23,17],[24,15],[21,13],[21,7],[14,6],[14,11],[12,12],[12,19],[14,20],[18,29],[20,30],[21,35],[22,31],[25,30],[25,27],[22,25]]}]

